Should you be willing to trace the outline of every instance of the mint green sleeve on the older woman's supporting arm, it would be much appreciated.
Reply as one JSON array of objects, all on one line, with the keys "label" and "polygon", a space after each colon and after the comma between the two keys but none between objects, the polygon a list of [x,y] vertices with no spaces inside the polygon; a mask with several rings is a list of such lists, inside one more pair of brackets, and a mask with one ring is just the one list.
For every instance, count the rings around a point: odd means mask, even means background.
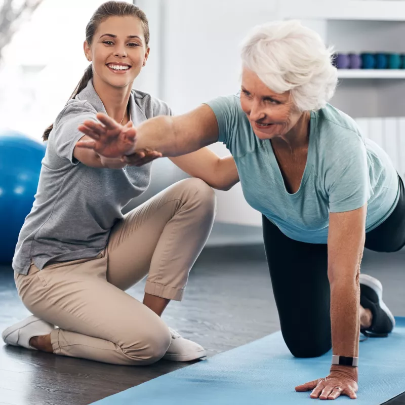
[{"label": "mint green sleeve on the older woman's supporting arm", "polygon": [[325,181],[330,212],[356,210],[370,197],[366,145],[355,132],[347,130],[341,135],[331,145],[332,154],[327,157]]}]

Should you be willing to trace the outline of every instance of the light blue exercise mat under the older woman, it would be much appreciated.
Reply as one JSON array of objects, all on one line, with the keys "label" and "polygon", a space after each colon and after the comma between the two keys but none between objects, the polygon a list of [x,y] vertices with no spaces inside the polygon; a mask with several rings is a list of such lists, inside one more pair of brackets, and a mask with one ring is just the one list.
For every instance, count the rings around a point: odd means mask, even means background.
[{"label": "light blue exercise mat under the older woman", "polygon": [[[339,403],[379,405],[405,391],[405,318],[388,338],[360,342],[357,399]],[[299,333],[299,331],[297,331]],[[220,353],[95,402],[97,405],[269,405],[315,403],[297,385],[329,372],[332,354],[292,357],[281,333]],[[317,399],[319,401],[319,399]],[[320,403],[320,402],[316,402]],[[323,403],[323,401],[322,401]],[[329,403],[329,402],[328,402]]]}]

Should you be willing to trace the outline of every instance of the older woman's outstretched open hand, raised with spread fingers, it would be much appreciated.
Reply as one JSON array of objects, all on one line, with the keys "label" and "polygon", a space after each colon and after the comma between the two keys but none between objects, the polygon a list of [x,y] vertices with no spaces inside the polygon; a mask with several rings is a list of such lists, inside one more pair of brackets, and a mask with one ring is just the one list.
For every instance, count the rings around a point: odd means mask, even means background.
[{"label": "older woman's outstretched open hand, raised with spread fingers", "polygon": [[109,158],[121,158],[135,152],[136,130],[129,121],[126,125],[120,125],[106,114],[98,113],[99,123],[86,120],[79,125],[78,130],[88,135],[93,141],[79,141],[79,148],[93,149],[101,156]]}]

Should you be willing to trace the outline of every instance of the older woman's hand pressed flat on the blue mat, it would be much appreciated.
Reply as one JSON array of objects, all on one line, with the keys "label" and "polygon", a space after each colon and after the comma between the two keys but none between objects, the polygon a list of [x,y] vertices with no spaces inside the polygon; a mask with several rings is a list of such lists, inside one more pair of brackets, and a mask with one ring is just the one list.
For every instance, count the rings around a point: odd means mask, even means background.
[{"label": "older woman's hand pressed flat on the blue mat", "polygon": [[311,398],[336,399],[340,395],[347,395],[356,399],[357,369],[349,369],[346,366],[332,366],[328,377],[299,385],[295,387],[298,392],[312,391]]}]

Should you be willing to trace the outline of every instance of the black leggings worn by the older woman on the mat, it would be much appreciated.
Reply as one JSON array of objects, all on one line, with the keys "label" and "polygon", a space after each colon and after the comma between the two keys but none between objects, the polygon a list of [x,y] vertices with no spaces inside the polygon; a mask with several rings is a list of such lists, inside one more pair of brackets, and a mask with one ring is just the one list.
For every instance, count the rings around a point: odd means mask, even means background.
[{"label": "black leggings worn by the older woman on the mat", "polygon": [[[366,248],[395,252],[405,246],[405,193],[392,214],[366,234]],[[332,347],[328,246],[290,239],[266,217],[263,238],[281,333],[296,357],[317,357]]]}]

